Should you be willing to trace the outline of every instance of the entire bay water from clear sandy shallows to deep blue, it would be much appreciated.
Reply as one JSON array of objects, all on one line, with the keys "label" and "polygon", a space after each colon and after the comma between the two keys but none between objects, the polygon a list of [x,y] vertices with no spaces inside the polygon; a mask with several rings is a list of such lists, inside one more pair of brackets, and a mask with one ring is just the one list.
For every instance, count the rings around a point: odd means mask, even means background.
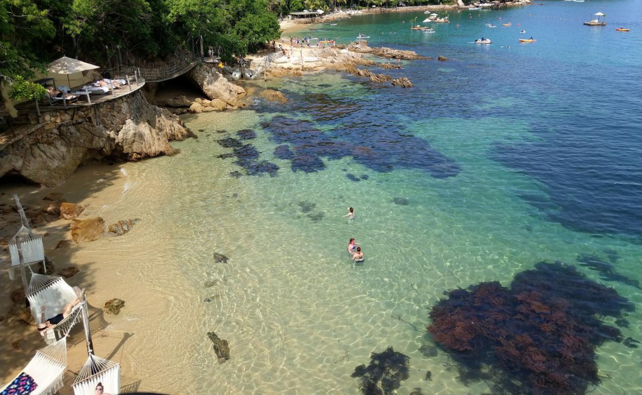
[{"label": "entire bay water from clear sandy shallows to deep blue", "polygon": [[[582,26],[602,6],[609,25]],[[591,1],[451,13],[430,37],[401,31],[422,13],[340,21],[340,37],[361,32],[374,46],[450,60],[389,72],[413,89],[306,75],[264,83],[286,105],[186,116],[200,137],[176,143],[180,155],[128,166],[129,189],[110,207],[146,212],[135,231],[164,240],[157,266],[193,285],[168,311],[190,328],[166,331],[189,356],[153,389],[181,392],[188,371],[195,393],[358,393],[354,368],[393,346],[410,356],[399,394],[489,392],[462,383],[443,351],[419,351],[433,345],[429,309],[446,290],[509,285],[542,260],[607,261],[623,277],[579,270],[639,306],[639,10]],[[499,27],[483,26],[491,20]],[[537,42],[517,44],[519,28]],[[469,44],[481,35],[495,44]],[[354,221],[342,218],[349,206]],[[351,237],[364,265],[348,258]],[[639,310],[627,319],[623,336],[642,340]],[[225,364],[208,331],[229,340]],[[607,342],[597,355],[604,378],[592,393],[642,390],[639,349]]]}]

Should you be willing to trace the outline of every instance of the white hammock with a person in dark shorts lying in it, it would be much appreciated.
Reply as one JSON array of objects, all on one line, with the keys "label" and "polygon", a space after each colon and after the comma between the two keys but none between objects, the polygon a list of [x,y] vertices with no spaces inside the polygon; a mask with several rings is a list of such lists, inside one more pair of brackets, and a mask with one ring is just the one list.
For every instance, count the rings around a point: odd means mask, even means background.
[{"label": "white hammock with a person in dark shorts lying in it", "polygon": [[[40,316],[42,315],[42,311],[40,310],[41,306],[46,307],[45,318],[51,318],[60,313],[65,305],[76,299],[76,297],[76,292],[74,292],[73,288],[71,288],[62,277],[46,276],[36,273],[31,274],[31,280],[27,290],[27,299],[29,299],[29,303],[31,304],[31,314],[39,324],[42,324],[42,322],[40,322]],[[60,321],[53,330],[50,329],[46,331],[45,341],[47,344],[55,342],[56,335],[58,335],[58,338],[69,335],[71,328],[82,319],[80,312],[82,312],[82,309],[86,308],[86,306],[86,301],[76,304],[71,310],[71,313]]]}]

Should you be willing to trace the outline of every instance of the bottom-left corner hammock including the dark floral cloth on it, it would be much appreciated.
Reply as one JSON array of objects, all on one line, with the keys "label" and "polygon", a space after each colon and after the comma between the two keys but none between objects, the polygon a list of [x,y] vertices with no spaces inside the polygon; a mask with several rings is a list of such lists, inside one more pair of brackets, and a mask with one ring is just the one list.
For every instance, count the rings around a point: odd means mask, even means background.
[{"label": "bottom-left corner hammock including the dark floral cloth on it", "polygon": [[[12,382],[0,387],[0,393],[53,395],[62,387],[67,369],[67,338],[36,351],[30,362]],[[13,391],[13,392],[12,392]]]}]

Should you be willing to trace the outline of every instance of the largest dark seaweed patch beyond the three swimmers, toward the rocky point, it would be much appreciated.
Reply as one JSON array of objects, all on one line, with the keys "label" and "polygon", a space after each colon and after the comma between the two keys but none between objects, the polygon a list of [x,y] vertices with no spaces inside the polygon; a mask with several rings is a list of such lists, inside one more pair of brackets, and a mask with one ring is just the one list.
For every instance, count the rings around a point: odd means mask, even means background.
[{"label": "largest dark seaweed patch beyond the three swimmers, toward the rocky point", "polygon": [[[295,155],[288,155],[287,158],[292,161],[293,171],[320,171],[325,168],[321,158],[332,160],[352,157],[379,172],[389,172],[397,167],[419,168],[436,178],[453,177],[459,173],[460,168],[453,160],[430,148],[424,139],[403,134],[403,127],[394,120],[387,121],[379,117],[355,121],[349,109],[345,113],[338,110],[336,103],[329,100],[327,95],[309,96],[314,96],[318,101],[315,104],[308,103],[306,107],[306,112],[314,112],[316,122],[322,124],[327,121],[334,126],[334,122],[341,119],[341,127],[324,131],[306,119],[285,116],[275,116],[261,125],[272,141],[291,146]],[[311,98],[306,97],[305,100]],[[379,121],[387,124],[377,123]],[[363,143],[356,144],[356,141]],[[284,151],[283,154],[288,153]]]}]

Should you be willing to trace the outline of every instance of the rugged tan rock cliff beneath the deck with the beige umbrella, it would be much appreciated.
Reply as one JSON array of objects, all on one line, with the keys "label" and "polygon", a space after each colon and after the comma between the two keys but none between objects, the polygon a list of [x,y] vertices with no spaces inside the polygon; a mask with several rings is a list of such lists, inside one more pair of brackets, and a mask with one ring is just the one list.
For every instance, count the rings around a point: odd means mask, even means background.
[{"label": "rugged tan rock cliff beneath the deck with the beige umbrella", "polygon": [[140,91],[42,117],[42,124],[15,130],[0,144],[0,177],[19,174],[55,186],[83,162],[171,155],[169,141],[191,136],[177,116],[151,105]]}]

